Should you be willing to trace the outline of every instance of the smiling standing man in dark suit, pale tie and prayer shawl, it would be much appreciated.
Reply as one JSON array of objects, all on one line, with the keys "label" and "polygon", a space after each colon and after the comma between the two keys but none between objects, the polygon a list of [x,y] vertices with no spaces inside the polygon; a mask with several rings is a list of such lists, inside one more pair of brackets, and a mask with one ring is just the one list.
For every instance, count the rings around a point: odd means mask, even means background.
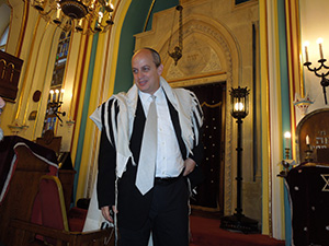
[{"label": "smiling standing man in dark suit, pale tie and prayer shawl", "polygon": [[[99,208],[107,221],[117,223],[120,246],[146,246],[150,232],[155,246],[188,246],[194,180],[186,177],[198,176],[202,110],[192,92],[173,90],[161,77],[163,65],[157,51],[135,52],[132,70],[135,84],[128,93],[113,95],[91,117],[102,129]],[[151,141],[146,140],[150,118],[157,121],[152,134],[157,139],[146,148]],[[149,161],[155,171],[143,167]],[[146,175],[141,183],[150,177],[150,188],[140,188],[139,172]]]}]

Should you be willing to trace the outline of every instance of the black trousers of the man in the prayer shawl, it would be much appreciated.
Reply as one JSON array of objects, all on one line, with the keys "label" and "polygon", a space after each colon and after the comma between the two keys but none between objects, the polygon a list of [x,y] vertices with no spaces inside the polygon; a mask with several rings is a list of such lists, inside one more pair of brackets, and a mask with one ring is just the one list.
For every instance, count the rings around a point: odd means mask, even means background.
[{"label": "black trousers of the man in the prayer shawl", "polygon": [[154,246],[188,246],[189,197],[185,177],[156,184],[147,223],[138,231],[120,227],[118,245],[147,246],[152,233]]}]

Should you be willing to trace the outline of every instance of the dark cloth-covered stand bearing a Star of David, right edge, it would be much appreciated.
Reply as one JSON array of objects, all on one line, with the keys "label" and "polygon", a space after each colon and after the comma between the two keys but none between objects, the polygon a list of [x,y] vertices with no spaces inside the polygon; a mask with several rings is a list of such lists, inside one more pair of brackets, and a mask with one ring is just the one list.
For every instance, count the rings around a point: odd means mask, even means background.
[{"label": "dark cloth-covered stand bearing a Star of David, right edge", "polygon": [[328,245],[329,165],[306,163],[286,177],[295,246]]}]

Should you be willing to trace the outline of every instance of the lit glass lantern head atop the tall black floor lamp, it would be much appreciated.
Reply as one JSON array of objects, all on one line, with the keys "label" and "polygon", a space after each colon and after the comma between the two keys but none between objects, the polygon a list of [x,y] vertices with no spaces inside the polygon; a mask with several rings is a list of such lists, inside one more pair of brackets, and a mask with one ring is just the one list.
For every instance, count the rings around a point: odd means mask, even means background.
[{"label": "lit glass lantern head atop the tall black floor lamp", "polygon": [[247,87],[231,89],[230,114],[234,118],[245,118],[249,113],[249,90]]}]

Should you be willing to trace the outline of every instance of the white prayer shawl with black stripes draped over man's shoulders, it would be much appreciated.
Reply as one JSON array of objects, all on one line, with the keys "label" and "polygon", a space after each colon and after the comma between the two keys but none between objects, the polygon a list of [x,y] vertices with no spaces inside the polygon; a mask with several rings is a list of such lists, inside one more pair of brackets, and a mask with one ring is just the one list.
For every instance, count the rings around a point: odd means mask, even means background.
[{"label": "white prayer shawl with black stripes draped over man's shoulders", "polygon": [[[186,157],[192,153],[194,144],[200,141],[198,128],[203,122],[203,115],[200,108],[198,101],[194,93],[184,89],[172,89],[168,82],[161,77],[160,86],[163,89],[168,99],[179,113],[179,122],[182,130],[182,139],[186,147]],[[107,110],[104,110],[104,122],[102,122],[101,112],[102,107],[107,108],[110,101],[114,99],[118,103],[118,116],[117,124],[115,122],[115,106],[112,104],[112,118],[109,119]],[[106,131],[109,141],[110,138],[110,125],[113,127],[114,144],[116,147],[116,176],[122,177],[126,169],[126,164],[132,157],[133,164],[136,164],[133,159],[133,154],[129,150],[129,139],[133,132],[133,125],[135,118],[135,112],[137,107],[138,89],[134,84],[127,93],[118,93],[111,96],[109,101],[102,104],[90,116],[90,118],[97,124],[100,130],[102,126]],[[117,127],[118,126],[118,127]],[[195,142],[194,142],[195,140]]]}]

